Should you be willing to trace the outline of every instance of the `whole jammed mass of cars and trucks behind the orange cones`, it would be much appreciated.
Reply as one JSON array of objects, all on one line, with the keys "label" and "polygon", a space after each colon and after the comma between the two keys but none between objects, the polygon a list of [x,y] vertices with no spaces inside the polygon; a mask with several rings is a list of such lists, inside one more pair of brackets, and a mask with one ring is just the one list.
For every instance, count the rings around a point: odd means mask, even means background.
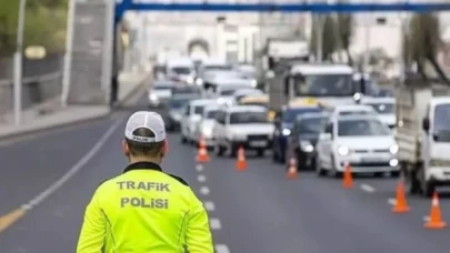
[{"label": "whole jammed mass of cars and trucks behind the orange cones", "polygon": [[402,173],[409,191],[423,195],[450,185],[448,88],[397,85],[396,98],[379,98],[350,67],[287,65],[268,77],[266,92],[229,70],[210,71],[196,93],[168,97],[168,128],[186,143],[202,135],[218,155],[242,145],[258,155],[271,150],[277,163],[294,158],[319,175],[339,175],[347,163],[353,172]]}]

